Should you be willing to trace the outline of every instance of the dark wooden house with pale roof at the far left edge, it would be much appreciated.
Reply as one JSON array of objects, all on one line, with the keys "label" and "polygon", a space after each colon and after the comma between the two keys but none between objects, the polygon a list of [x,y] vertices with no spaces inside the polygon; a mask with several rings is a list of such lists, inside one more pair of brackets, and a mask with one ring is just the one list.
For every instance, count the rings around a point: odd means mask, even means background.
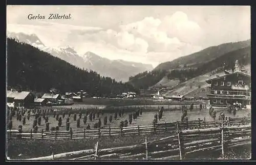
[{"label": "dark wooden house with pale roof at the far left edge", "polygon": [[7,106],[29,107],[34,102],[34,95],[28,91],[7,91]]}]

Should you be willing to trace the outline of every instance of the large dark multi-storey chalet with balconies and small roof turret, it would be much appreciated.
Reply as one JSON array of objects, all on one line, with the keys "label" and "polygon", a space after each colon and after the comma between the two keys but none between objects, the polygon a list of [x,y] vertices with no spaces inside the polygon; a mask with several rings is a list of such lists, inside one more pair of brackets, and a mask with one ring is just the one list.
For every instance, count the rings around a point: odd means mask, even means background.
[{"label": "large dark multi-storey chalet with balconies and small roof turret", "polygon": [[251,76],[240,70],[238,61],[234,66],[232,73],[206,80],[211,85],[207,94],[210,105],[227,106],[238,102],[245,107],[251,104]]}]

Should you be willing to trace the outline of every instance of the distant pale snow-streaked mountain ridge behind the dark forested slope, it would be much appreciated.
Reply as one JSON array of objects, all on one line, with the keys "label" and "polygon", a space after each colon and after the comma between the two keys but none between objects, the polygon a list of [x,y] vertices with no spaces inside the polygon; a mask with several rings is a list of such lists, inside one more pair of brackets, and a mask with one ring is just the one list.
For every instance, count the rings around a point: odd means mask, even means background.
[{"label": "distant pale snow-streaked mountain ridge behind the dark forested slope", "polygon": [[[103,58],[91,51],[84,54],[78,54],[74,48],[70,46],[47,47],[35,34],[27,35],[24,33],[9,32],[7,37],[14,38],[20,42],[28,43],[81,69],[94,70],[103,76],[112,77],[117,81],[125,82],[129,80],[129,76],[136,75],[145,70],[154,69],[151,64],[136,63],[124,60],[110,60]],[[37,40],[39,42],[36,42]],[[88,53],[91,55],[86,56]]]}]

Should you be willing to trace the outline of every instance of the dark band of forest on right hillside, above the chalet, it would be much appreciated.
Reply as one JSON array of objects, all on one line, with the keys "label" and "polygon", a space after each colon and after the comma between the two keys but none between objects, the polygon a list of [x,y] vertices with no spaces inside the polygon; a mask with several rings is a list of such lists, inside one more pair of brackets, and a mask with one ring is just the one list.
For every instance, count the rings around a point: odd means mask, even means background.
[{"label": "dark band of forest on right hillside, above the chalet", "polygon": [[[205,54],[205,56],[207,56],[207,54]],[[183,68],[178,67],[172,70],[154,69],[151,72],[143,72],[137,74],[134,77],[130,77],[130,82],[136,88],[144,87],[144,89],[154,86],[165,75],[168,79],[179,79],[180,82],[184,82],[187,79],[211,72],[212,70],[215,70],[217,68],[221,68],[223,71],[224,69],[233,69],[234,62],[236,60],[238,60],[241,65],[250,64],[250,58],[251,47],[247,46],[238,50],[225,53],[214,60],[201,63],[196,68],[186,66]]]}]

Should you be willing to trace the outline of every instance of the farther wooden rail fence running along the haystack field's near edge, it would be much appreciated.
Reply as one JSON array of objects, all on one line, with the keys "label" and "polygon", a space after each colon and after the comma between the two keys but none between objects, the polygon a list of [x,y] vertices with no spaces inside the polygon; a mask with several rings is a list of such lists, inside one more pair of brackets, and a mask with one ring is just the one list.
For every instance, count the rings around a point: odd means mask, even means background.
[{"label": "farther wooden rail fence running along the haystack field's near edge", "polygon": [[[223,126],[235,126],[235,125],[246,125],[250,123],[250,118],[234,118],[226,119],[223,122]],[[101,136],[125,136],[131,134],[148,134],[148,133],[163,133],[170,132],[175,133],[177,130],[187,130],[195,128],[213,128],[221,127],[222,121],[205,121],[198,119],[194,121],[185,122],[168,122],[168,123],[157,123],[148,126],[133,126],[133,127],[109,127],[99,129],[70,129],[70,131],[44,131],[33,132],[23,131],[19,133],[17,130],[7,130],[8,138],[24,138],[24,139],[89,139],[89,138],[100,138]],[[179,128],[179,129],[177,129]]]}]

